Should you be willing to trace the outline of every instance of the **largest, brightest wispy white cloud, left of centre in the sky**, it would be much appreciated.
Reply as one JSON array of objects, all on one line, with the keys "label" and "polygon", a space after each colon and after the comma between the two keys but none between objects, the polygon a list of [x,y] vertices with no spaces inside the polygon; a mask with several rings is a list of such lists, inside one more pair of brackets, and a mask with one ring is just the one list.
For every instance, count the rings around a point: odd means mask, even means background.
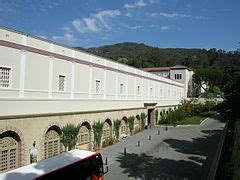
[{"label": "largest, brightest wispy white cloud, left of centre in the sky", "polygon": [[98,32],[103,29],[111,29],[109,18],[121,15],[119,10],[103,10],[89,17],[75,19],[72,21],[73,26],[81,33]]}]

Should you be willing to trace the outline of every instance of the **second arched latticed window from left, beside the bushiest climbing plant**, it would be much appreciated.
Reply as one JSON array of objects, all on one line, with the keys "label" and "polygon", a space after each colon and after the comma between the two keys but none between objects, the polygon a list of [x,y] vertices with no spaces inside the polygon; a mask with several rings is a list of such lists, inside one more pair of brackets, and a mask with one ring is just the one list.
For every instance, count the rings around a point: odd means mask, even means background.
[{"label": "second arched latticed window from left, beside the bushiest climbing plant", "polygon": [[52,126],[45,134],[44,158],[47,159],[52,156],[56,156],[60,154],[60,152],[60,128]]}]

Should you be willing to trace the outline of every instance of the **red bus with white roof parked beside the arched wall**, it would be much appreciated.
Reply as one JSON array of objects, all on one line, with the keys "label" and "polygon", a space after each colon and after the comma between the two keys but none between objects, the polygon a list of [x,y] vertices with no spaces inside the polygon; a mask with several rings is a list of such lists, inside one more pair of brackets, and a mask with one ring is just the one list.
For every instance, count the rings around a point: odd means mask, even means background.
[{"label": "red bus with white roof parked beside the arched wall", "polygon": [[102,156],[99,152],[72,150],[18,169],[0,174],[0,179],[81,179],[103,180]]}]

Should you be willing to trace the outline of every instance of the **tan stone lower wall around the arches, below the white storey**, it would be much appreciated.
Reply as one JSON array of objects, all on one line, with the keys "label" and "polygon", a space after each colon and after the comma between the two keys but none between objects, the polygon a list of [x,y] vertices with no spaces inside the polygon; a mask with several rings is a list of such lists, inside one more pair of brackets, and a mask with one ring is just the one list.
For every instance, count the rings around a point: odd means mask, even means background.
[{"label": "tan stone lower wall around the arches, below the white storey", "polygon": [[[32,143],[36,142],[38,149],[38,160],[44,159],[44,137],[47,130],[52,126],[64,127],[67,124],[81,125],[83,122],[88,122],[92,125],[96,121],[104,122],[109,119],[111,123],[114,120],[121,120],[123,117],[129,117],[141,113],[147,113],[145,108],[131,109],[131,110],[116,110],[108,112],[95,112],[95,113],[73,113],[73,114],[59,114],[59,115],[45,115],[38,117],[18,117],[0,120],[0,134],[12,130],[15,131],[21,139],[22,152],[21,152],[21,165],[30,163],[29,150]],[[112,128],[113,130],[113,128]],[[93,132],[91,129],[92,137]],[[113,134],[113,132],[112,132]],[[91,141],[93,143],[93,139]],[[93,146],[92,146],[93,147]]]}]

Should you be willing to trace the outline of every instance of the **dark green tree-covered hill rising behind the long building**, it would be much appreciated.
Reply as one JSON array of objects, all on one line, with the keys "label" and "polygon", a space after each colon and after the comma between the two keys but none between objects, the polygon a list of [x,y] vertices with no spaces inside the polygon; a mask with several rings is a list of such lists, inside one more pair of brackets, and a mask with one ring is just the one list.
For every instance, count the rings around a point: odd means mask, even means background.
[{"label": "dark green tree-covered hill rising behind the long building", "polygon": [[130,66],[158,67],[185,65],[191,68],[240,66],[240,53],[217,49],[158,48],[142,43],[119,43],[85,51],[118,61]]}]

